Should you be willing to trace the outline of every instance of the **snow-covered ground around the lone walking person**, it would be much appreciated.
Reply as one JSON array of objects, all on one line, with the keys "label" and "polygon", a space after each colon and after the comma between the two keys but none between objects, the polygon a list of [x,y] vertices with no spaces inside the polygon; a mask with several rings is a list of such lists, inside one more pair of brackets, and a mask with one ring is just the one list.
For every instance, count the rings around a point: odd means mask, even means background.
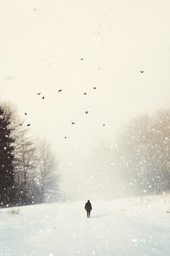
[{"label": "snow-covered ground around the lone walking person", "polygon": [[60,202],[0,211],[0,255],[169,256],[170,197]]}]

